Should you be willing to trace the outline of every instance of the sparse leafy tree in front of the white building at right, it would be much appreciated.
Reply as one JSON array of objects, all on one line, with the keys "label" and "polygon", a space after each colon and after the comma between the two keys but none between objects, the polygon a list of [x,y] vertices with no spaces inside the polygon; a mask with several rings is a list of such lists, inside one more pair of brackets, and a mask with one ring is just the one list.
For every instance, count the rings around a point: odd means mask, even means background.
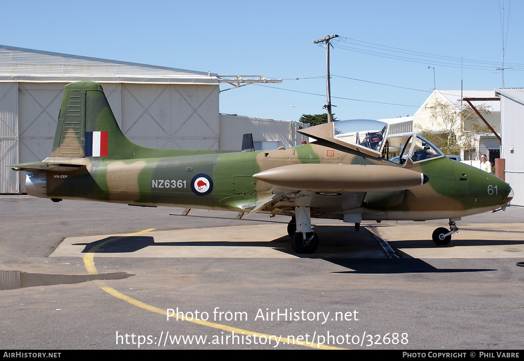
[{"label": "sparse leafy tree in front of the white building at right", "polygon": [[[491,107],[487,104],[476,105],[475,108],[481,113],[490,114]],[[474,150],[475,135],[489,133],[489,128],[467,104],[437,100],[432,105],[426,105],[424,109],[430,112],[430,119],[438,126],[439,132],[422,128],[420,125],[416,125],[416,129],[444,154],[459,155],[462,150]]]}]

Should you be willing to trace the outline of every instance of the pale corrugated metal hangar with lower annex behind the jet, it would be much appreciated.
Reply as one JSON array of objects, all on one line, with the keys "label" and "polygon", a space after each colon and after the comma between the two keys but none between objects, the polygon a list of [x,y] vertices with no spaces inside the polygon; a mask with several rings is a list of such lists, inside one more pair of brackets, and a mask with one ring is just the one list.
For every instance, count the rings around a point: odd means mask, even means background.
[{"label": "pale corrugated metal hangar with lower annex behind the jet", "polygon": [[0,45],[0,194],[25,193],[25,177],[7,165],[50,154],[63,87],[79,80],[101,83],[122,132],[146,147],[240,150],[243,132],[253,133],[260,149],[289,147],[308,126],[219,113],[220,84],[280,80]]}]

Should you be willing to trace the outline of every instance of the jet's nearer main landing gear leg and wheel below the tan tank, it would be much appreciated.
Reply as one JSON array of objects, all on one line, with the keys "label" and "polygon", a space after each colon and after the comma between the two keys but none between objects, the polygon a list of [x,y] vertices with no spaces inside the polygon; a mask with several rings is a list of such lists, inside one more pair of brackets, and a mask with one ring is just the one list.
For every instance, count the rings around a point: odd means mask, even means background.
[{"label": "jet's nearer main landing gear leg and wheel below the tan tank", "polygon": [[311,229],[310,209],[295,207],[295,217],[288,223],[291,247],[297,253],[313,253],[319,247],[319,236]]}]

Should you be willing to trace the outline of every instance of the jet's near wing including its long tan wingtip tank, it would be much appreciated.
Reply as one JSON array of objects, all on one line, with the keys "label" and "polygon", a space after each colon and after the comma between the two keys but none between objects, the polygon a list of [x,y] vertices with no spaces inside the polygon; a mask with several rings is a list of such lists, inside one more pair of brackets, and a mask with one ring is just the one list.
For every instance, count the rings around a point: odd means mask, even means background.
[{"label": "jet's near wing including its long tan wingtip tank", "polygon": [[310,207],[312,213],[342,213],[362,207],[368,192],[409,189],[429,179],[405,168],[358,164],[292,164],[253,177],[275,187],[269,190],[274,195],[256,204],[249,214],[299,206]]}]

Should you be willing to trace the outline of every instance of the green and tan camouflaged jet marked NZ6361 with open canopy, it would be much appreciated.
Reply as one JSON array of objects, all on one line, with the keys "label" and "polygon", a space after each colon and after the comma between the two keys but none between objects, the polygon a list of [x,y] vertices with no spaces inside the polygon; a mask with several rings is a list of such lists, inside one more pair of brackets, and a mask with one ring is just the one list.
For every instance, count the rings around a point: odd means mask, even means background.
[{"label": "green and tan camouflaged jet marked NZ6361 with open canopy", "polygon": [[176,206],[291,216],[298,253],[314,252],[311,218],[450,219],[433,241],[446,245],[462,216],[505,208],[503,180],[446,158],[413,133],[399,162],[388,161],[386,123],[340,121],[299,131],[311,144],[272,151],[151,149],[121,132],[100,84],[64,88],[51,156],[12,165],[29,195],[136,206]]}]

